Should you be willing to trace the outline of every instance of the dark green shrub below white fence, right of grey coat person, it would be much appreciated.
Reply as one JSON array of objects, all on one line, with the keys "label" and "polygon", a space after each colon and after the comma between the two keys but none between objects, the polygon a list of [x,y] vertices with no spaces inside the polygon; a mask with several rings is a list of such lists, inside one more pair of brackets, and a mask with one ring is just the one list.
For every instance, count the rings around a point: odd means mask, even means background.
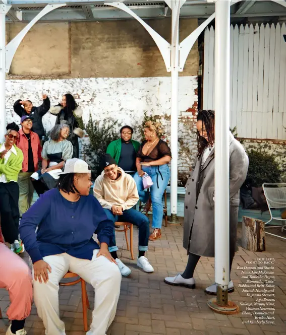
[{"label": "dark green shrub below white fence, right of grey coat person", "polygon": [[260,187],[263,183],[278,183],[281,179],[279,163],[274,154],[268,154],[262,149],[247,151],[249,167],[246,184]]}]

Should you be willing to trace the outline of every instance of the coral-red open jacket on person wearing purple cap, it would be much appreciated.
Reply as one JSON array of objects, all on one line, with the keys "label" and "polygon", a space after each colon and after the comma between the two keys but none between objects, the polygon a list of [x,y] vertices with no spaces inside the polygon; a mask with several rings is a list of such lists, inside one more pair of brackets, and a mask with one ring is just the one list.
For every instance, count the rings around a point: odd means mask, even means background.
[{"label": "coral-red open jacket on person wearing purple cap", "polygon": [[[33,156],[34,156],[34,166],[35,166],[35,171],[37,171],[38,162],[39,160],[40,161],[42,160],[42,156],[41,156],[42,147],[40,144],[39,136],[35,132],[30,131],[30,136],[31,136],[31,146],[32,146],[32,151],[33,151]],[[29,141],[26,138],[26,135],[24,134],[23,129],[20,129],[19,131],[19,140],[17,142],[17,147],[21,149],[24,154],[22,172],[27,172]]]}]

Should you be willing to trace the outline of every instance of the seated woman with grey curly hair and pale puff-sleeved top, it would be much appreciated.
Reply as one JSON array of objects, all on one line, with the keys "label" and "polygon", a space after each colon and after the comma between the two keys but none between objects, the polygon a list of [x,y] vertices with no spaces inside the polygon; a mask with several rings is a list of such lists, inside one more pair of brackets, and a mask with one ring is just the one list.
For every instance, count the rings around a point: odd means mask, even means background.
[{"label": "seated woman with grey curly hair and pale puff-sleeved top", "polygon": [[42,150],[42,169],[31,175],[31,181],[38,195],[56,187],[59,173],[67,159],[73,155],[73,146],[67,141],[70,127],[67,123],[56,124],[50,132]]}]

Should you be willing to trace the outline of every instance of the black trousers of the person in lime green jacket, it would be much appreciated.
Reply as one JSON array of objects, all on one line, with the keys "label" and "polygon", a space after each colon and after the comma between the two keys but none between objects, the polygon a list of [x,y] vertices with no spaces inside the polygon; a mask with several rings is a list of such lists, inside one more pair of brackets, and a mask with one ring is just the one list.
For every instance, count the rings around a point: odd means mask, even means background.
[{"label": "black trousers of the person in lime green jacket", "polygon": [[0,183],[0,221],[4,239],[13,243],[19,238],[19,185],[15,181]]}]

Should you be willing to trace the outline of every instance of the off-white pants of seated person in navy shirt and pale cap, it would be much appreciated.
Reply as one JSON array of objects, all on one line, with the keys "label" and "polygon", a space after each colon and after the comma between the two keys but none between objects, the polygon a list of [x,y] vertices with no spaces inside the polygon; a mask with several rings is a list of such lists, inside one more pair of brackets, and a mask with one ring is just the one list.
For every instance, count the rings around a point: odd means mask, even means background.
[{"label": "off-white pants of seated person in navy shirt and pale cap", "polygon": [[65,335],[65,323],[60,319],[59,282],[68,271],[74,272],[94,288],[94,310],[87,335],[105,335],[113,321],[120,294],[119,267],[104,256],[92,260],[75,258],[67,253],[43,257],[51,266],[46,284],[34,280],[34,301],[39,317],[43,320],[45,335]]}]

